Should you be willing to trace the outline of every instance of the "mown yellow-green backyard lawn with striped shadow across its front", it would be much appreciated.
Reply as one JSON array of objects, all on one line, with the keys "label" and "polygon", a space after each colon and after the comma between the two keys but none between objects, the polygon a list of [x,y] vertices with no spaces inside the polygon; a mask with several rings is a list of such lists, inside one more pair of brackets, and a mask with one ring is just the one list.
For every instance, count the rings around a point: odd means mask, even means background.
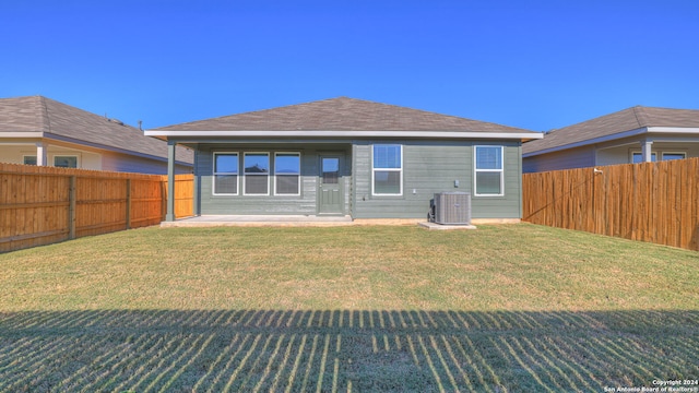
[{"label": "mown yellow-green backyard lawn with striped shadow across its front", "polygon": [[654,386],[699,378],[698,273],[528,224],[83,238],[0,254],[0,392]]}]

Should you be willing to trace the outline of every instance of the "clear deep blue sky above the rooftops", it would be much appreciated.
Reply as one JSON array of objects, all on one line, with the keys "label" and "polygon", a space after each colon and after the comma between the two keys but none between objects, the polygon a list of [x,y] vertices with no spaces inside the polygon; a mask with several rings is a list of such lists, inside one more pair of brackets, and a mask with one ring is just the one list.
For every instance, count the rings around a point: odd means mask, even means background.
[{"label": "clear deep blue sky above the rooftops", "polygon": [[699,1],[2,0],[0,97],[156,128],[348,96],[536,131],[699,108]]}]

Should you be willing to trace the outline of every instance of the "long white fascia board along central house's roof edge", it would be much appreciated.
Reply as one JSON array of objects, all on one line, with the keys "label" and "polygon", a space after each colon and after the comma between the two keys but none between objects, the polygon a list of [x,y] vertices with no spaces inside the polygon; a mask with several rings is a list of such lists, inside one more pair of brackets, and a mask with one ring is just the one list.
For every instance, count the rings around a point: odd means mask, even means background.
[{"label": "long white fascia board along central house's roof edge", "polygon": [[502,139],[535,140],[540,132],[469,132],[469,131],[156,131],[145,130],[146,136],[171,138],[446,138],[446,139]]}]

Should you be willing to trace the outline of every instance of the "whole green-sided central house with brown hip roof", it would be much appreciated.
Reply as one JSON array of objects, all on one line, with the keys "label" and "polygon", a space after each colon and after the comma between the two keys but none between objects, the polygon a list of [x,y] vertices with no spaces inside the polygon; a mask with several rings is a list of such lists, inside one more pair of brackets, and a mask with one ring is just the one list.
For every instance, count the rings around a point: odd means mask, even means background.
[{"label": "whole green-sided central house with brown hip roof", "polygon": [[[514,221],[521,217],[521,144],[543,136],[346,97],[145,134],[167,140],[170,152],[194,150],[198,215],[425,218],[436,192],[465,191],[473,218]],[[168,221],[171,212],[168,205]]]}]

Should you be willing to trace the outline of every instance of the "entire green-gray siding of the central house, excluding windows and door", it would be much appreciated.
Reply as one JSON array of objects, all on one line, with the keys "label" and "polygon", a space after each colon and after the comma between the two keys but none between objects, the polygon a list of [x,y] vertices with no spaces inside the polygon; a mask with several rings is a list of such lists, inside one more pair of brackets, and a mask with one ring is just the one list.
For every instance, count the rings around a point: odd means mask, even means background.
[{"label": "entire green-gray siding of the central house, excluding windows and door", "polygon": [[[371,194],[371,146],[374,143],[403,145],[403,194]],[[505,195],[473,195],[473,146],[505,146]],[[319,156],[341,152],[344,158],[343,178],[345,214],[354,218],[425,218],[429,201],[437,192],[464,191],[472,194],[474,218],[521,217],[521,147],[519,142],[453,142],[453,141],[353,141],[343,144],[268,143],[268,144],[200,144],[197,159],[199,214],[304,214],[318,213]],[[213,153],[300,152],[301,194],[213,195]],[[454,187],[454,181],[459,187]],[[239,182],[239,189],[242,187]]]}]

